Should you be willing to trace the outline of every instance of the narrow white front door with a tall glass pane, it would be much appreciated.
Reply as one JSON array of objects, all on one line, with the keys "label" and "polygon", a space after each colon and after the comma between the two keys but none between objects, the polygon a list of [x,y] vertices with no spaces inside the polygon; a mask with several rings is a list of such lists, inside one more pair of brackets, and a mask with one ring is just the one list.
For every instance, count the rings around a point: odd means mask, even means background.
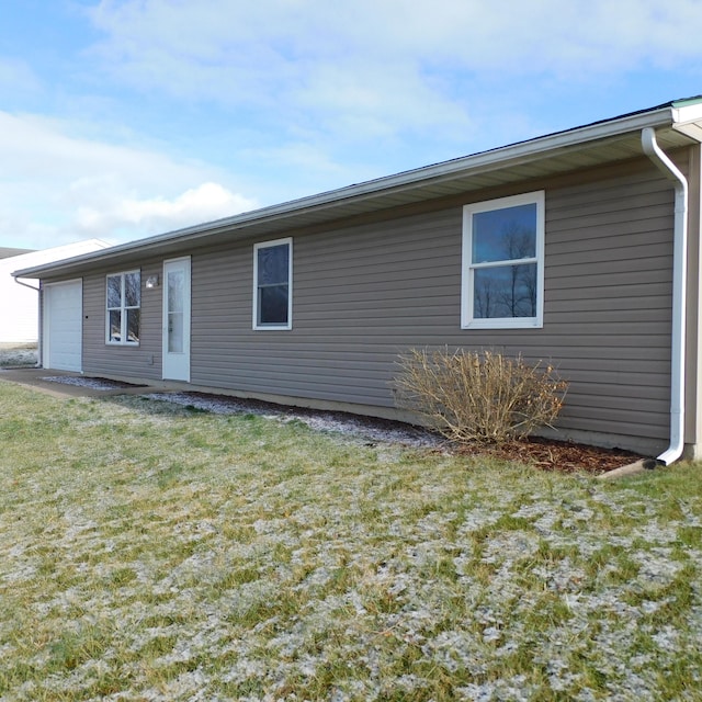
[{"label": "narrow white front door with a tall glass pane", "polygon": [[163,261],[163,378],[190,382],[190,257]]}]

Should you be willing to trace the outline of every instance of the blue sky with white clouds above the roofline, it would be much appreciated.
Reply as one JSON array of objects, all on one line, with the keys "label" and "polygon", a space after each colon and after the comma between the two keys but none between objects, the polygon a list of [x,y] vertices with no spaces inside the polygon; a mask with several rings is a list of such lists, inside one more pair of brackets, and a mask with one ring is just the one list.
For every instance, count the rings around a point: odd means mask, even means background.
[{"label": "blue sky with white clouds above the roofline", "polygon": [[702,93],[700,0],[0,0],[0,247],[172,231]]}]

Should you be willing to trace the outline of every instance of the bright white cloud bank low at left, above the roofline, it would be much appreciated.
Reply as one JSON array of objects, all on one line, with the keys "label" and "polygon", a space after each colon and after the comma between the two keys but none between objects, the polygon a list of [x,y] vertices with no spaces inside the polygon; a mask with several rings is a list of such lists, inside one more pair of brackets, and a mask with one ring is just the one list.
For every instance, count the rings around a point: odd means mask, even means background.
[{"label": "bright white cloud bank low at left, above the roofline", "polygon": [[71,127],[0,112],[0,244],[128,240],[258,206],[217,182],[216,169],[72,136]]}]

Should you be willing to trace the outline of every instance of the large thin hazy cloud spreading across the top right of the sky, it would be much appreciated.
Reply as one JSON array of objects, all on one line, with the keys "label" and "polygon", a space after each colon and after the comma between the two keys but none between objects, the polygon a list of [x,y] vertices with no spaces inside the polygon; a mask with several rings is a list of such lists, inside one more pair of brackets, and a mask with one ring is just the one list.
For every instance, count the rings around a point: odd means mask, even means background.
[{"label": "large thin hazy cloud spreading across the top right of the sky", "polygon": [[91,56],[118,81],[264,122],[262,141],[269,129],[279,145],[346,149],[347,162],[363,144],[469,152],[466,135],[499,129],[497,111],[523,121],[532,82],[574,94],[702,57],[698,0],[102,0],[90,16],[105,35]]}]

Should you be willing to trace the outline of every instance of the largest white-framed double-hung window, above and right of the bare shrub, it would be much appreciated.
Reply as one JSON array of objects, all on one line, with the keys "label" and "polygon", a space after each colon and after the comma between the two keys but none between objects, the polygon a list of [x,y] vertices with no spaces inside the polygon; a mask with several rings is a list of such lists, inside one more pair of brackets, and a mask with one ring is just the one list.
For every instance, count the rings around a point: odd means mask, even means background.
[{"label": "largest white-framed double-hung window, above and right of the bare shrub", "polygon": [[463,208],[463,329],[543,326],[544,192]]}]

